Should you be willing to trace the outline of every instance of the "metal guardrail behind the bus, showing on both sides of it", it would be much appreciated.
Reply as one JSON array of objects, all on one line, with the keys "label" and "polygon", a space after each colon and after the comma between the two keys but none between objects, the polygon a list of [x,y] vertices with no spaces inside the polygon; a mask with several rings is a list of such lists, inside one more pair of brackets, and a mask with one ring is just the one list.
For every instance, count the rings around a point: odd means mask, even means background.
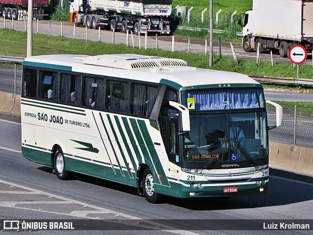
[{"label": "metal guardrail behind the bus, showing on both sides of it", "polygon": [[[23,57],[13,56],[0,56],[0,61],[15,62],[22,64]],[[260,76],[260,75],[248,75],[258,82],[271,82],[271,83],[289,83],[297,85],[309,85],[313,86],[313,79],[302,79],[302,78],[289,78],[289,77],[271,77],[271,76]]]}]

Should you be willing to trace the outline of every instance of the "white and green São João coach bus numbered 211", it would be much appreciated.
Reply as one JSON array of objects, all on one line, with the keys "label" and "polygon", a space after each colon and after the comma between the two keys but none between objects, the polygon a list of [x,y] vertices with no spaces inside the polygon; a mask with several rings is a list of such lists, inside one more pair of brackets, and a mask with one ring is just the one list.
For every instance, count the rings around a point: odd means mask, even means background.
[{"label": "white and green S\u00e3o Jo\u00e3o coach bus numbered 211", "polygon": [[261,84],[180,59],[41,55],[22,69],[22,154],[60,180],[81,173],[136,187],[150,203],[268,190]]}]

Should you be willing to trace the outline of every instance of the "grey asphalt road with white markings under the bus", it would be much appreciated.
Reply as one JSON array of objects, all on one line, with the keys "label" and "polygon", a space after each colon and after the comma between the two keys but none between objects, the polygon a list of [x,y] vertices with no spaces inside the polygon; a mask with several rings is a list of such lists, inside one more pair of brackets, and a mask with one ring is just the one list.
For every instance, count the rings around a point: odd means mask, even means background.
[{"label": "grey asphalt road with white markings under the bus", "polygon": [[[144,234],[156,234],[154,231],[156,226],[174,226],[186,230],[189,223],[190,227],[201,229],[203,223],[212,223],[212,226],[216,226],[227,220],[228,225],[236,223],[233,224],[234,227],[251,226],[252,223],[252,228],[249,228],[253,230],[253,223],[258,227],[263,220],[271,223],[275,222],[275,219],[291,219],[293,222],[313,219],[312,178],[307,182],[300,182],[276,174],[270,176],[270,188],[266,195],[234,196],[228,200],[183,200],[167,197],[164,203],[156,205],[138,196],[135,188],[109,181],[83,175],[76,175],[73,180],[60,181],[52,174],[51,168],[35,164],[22,157],[21,125],[11,121],[0,120],[2,134],[0,136],[0,219],[161,219],[157,220],[157,224],[151,222],[148,225],[138,225],[141,229],[142,226],[148,226]],[[212,222],[209,219],[214,220]],[[120,228],[119,225],[111,225],[113,229]],[[40,232],[40,234],[52,234],[53,231]],[[91,231],[83,232],[67,233],[86,234]],[[94,232],[95,234],[141,234],[132,229]],[[234,234],[232,230],[192,232]],[[312,231],[285,230],[272,230],[269,233],[264,229],[254,232],[240,230],[236,231],[236,234],[293,235],[298,232],[312,234]],[[157,232],[157,234],[168,233],[192,234],[190,231],[173,230]]]}]

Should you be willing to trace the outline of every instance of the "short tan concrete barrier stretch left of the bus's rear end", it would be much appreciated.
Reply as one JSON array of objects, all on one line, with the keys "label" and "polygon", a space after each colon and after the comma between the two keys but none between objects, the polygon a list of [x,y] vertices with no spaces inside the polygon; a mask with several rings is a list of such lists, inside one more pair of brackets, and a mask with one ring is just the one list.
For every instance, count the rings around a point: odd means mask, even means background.
[{"label": "short tan concrete barrier stretch left of the bus's rear end", "polygon": [[0,112],[21,116],[21,95],[0,92]]}]

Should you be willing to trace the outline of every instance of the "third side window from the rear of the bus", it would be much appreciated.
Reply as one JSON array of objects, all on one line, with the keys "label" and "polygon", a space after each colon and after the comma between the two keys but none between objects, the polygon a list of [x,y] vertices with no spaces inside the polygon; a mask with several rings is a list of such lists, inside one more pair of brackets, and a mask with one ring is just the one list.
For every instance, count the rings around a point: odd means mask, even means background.
[{"label": "third side window from the rear of the bus", "polygon": [[79,104],[81,77],[73,74],[61,75],[60,101],[70,104]]}]

